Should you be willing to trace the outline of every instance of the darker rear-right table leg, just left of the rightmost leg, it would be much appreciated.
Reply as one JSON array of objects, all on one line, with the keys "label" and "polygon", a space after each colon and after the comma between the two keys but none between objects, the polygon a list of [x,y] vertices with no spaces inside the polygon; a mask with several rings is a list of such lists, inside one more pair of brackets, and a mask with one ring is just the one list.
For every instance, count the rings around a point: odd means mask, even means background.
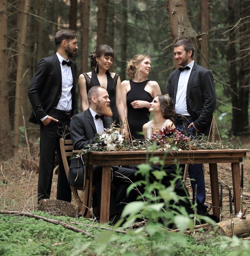
[{"label": "darker rear-right table leg, just left of the rightmost leg", "polygon": [[209,164],[211,196],[212,196],[212,213],[219,217],[219,180],[217,164]]}]

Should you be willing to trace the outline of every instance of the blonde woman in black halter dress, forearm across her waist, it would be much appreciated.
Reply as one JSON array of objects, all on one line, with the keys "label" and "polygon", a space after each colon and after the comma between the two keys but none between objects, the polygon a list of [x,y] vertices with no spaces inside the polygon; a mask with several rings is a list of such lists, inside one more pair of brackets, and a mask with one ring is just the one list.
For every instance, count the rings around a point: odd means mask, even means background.
[{"label": "blonde woman in black halter dress, forearm across her waist", "polygon": [[150,57],[135,55],[127,62],[126,73],[131,80],[122,82],[122,99],[128,128],[134,139],[143,139],[142,126],[149,121],[150,102],[157,94],[162,94],[156,81],[148,80]]}]

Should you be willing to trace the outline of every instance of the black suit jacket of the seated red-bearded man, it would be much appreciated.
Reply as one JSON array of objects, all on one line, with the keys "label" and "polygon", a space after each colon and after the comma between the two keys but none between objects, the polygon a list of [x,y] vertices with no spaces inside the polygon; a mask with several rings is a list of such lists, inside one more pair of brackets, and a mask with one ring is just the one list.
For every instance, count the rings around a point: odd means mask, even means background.
[{"label": "black suit jacket of the seated red-bearded man", "polygon": [[[104,117],[103,126],[104,128],[110,126],[108,117]],[[84,146],[93,144],[96,133],[95,123],[89,108],[72,117],[70,135],[75,150],[81,150]]]}]

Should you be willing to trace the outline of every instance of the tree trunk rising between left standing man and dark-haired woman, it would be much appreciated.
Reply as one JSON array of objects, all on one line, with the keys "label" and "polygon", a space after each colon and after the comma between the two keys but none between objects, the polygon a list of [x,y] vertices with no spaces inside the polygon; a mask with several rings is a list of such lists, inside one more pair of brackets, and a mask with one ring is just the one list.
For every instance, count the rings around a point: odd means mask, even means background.
[{"label": "tree trunk rising between left standing man and dark-haired woman", "polygon": [[88,72],[89,10],[90,0],[81,0],[81,73]]}]

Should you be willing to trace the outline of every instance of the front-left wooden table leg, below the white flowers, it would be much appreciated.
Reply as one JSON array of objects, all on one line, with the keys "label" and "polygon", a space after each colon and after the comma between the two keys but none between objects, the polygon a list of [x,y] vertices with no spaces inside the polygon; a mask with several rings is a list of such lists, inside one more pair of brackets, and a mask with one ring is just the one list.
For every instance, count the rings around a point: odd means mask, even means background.
[{"label": "front-left wooden table leg, below the white flowers", "polygon": [[110,187],[111,187],[111,166],[102,166],[102,193],[100,220],[105,223],[109,220],[110,204]]}]

